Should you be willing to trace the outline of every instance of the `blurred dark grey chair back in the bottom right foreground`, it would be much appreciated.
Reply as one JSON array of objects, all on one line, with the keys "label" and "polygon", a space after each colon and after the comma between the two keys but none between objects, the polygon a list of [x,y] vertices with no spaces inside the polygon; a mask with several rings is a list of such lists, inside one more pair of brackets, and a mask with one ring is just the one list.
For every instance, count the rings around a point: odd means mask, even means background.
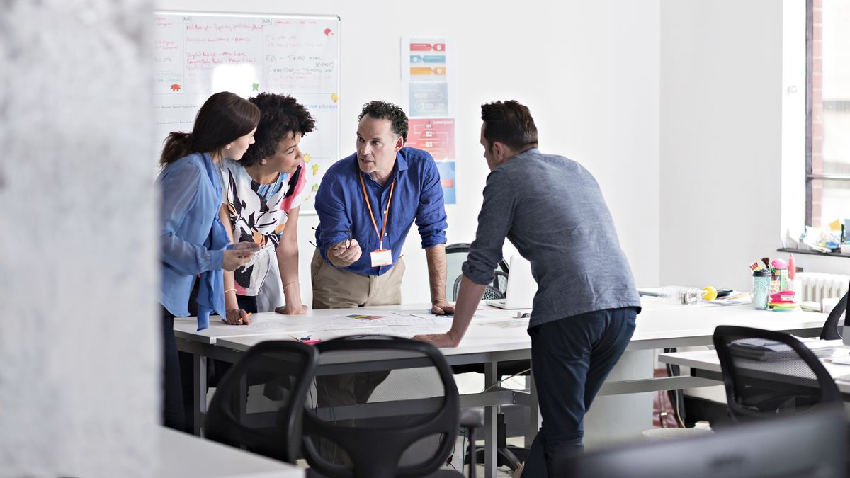
[{"label": "blurred dark grey chair back in the bottom right foreground", "polygon": [[846,475],[847,422],[838,411],[780,417],[717,433],[621,444],[558,460],[553,476],[789,478]]}]

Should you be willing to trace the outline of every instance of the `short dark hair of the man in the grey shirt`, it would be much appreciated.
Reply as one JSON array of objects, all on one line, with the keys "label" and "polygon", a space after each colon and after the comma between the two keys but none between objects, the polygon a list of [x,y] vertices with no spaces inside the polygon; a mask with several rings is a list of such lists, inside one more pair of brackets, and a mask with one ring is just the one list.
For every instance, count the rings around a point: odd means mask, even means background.
[{"label": "short dark hair of the man in the grey shirt", "polygon": [[484,139],[495,141],[513,150],[537,145],[537,127],[528,107],[515,100],[495,101],[481,105]]}]

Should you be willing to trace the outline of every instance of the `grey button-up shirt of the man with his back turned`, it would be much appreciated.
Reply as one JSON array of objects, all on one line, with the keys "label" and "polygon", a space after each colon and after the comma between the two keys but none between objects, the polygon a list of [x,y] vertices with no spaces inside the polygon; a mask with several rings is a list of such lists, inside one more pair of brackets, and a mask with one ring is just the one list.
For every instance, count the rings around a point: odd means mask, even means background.
[{"label": "grey button-up shirt of the man with his back turned", "polygon": [[578,162],[532,148],[493,169],[463,274],[477,284],[493,282],[506,236],[537,282],[529,327],[640,307],[602,191]]}]

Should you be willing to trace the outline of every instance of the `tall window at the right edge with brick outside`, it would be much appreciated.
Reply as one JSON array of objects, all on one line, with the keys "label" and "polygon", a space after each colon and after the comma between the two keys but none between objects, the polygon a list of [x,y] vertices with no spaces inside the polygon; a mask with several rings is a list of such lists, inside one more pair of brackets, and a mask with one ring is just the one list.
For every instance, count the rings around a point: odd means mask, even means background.
[{"label": "tall window at the right edge with brick outside", "polygon": [[850,218],[850,0],[807,0],[806,224]]}]

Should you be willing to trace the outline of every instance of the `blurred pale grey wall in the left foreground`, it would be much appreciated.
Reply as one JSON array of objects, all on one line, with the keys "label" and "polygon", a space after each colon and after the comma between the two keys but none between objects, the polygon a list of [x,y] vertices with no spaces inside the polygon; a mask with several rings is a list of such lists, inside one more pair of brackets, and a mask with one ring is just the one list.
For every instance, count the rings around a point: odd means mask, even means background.
[{"label": "blurred pale grey wall in the left foreground", "polygon": [[0,15],[0,476],[155,476],[150,3]]}]

